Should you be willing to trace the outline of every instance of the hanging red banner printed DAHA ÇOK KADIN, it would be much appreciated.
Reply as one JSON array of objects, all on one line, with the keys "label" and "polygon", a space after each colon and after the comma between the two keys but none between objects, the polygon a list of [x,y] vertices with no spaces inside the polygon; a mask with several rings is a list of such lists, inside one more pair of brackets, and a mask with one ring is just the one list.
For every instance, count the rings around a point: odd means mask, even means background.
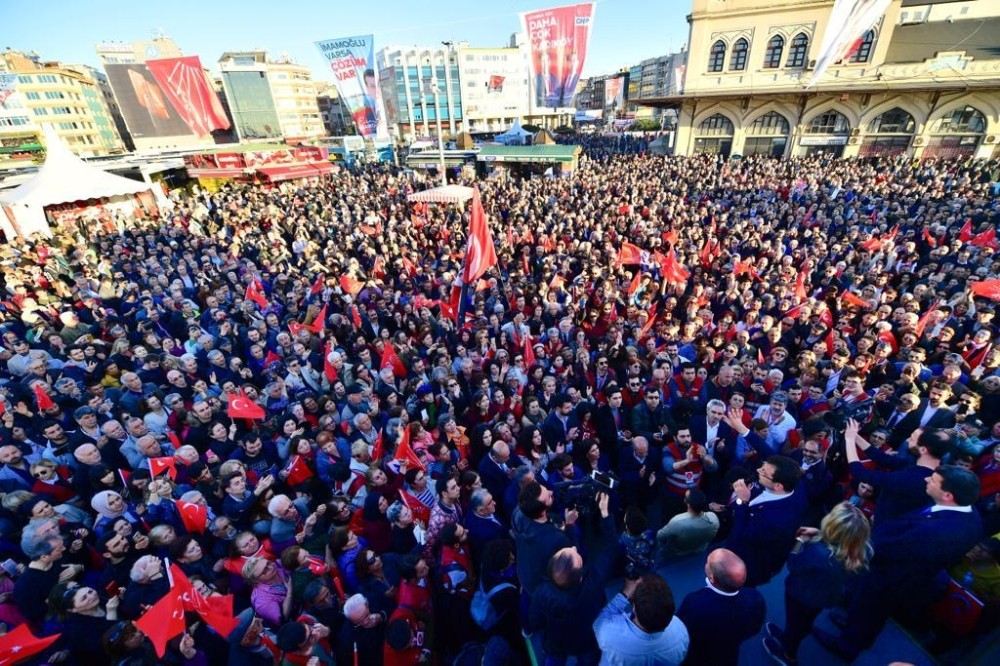
[{"label": "hanging red banner printed DAHA \u00c7OK KADIN", "polygon": [[573,105],[593,20],[594,4],[589,2],[521,14],[537,106]]}]

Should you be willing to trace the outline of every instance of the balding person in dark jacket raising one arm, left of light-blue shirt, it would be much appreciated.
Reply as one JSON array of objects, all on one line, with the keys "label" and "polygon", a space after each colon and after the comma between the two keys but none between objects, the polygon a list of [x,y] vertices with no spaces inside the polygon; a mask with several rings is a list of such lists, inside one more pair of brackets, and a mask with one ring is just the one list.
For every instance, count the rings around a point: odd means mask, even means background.
[{"label": "balding person in dark jacket raising one arm, left of light-blue shirt", "polygon": [[545,580],[531,596],[527,628],[541,632],[546,664],[595,664],[600,656],[593,623],[607,601],[604,588],[614,561],[614,520],[609,496],[599,493],[600,536],[593,556],[583,557],[575,546],[562,548],[548,562]]}]

